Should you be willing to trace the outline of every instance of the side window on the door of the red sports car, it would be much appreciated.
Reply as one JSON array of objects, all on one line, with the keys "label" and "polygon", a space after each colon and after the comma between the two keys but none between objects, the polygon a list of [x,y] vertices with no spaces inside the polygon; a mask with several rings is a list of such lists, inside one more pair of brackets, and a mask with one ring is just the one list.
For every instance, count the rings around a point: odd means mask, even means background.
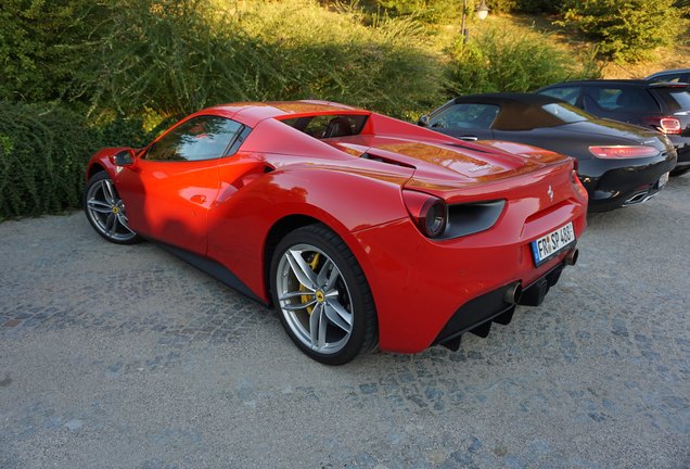
[{"label": "side window on the door of the red sports car", "polygon": [[165,162],[218,159],[241,128],[241,124],[225,117],[194,117],[155,142],[144,157]]}]

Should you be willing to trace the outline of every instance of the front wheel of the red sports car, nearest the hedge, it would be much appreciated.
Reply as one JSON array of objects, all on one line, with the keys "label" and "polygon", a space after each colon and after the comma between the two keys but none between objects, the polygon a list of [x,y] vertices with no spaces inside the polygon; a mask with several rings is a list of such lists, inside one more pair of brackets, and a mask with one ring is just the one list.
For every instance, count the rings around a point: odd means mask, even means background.
[{"label": "front wheel of the red sports car, nearest the hedge", "polygon": [[126,242],[137,237],[129,228],[125,204],[108,178],[94,181],[87,189],[86,208],[93,226],[104,237]]}]

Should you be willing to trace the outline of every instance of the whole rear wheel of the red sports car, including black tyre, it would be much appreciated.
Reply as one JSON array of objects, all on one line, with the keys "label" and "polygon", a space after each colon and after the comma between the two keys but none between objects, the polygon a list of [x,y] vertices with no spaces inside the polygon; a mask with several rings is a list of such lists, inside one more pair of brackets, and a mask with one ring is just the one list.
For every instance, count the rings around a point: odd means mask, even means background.
[{"label": "whole rear wheel of the red sports car, including black tyre", "polygon": [[281,322],[308,356],[342,365],[376,345],[371,289],[333,231],[310,225],[290,232],[276,248],[270,272]]}]

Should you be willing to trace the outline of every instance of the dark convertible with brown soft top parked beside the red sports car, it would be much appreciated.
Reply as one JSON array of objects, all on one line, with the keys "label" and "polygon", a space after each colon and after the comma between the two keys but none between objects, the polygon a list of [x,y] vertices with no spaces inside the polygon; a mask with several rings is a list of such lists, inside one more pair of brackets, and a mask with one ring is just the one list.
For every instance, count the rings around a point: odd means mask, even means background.
[{"label": "dark convertible with brown soft top parked beside the red sports car", "polygon": [[573,156],[590,212],[644,202],[668,180],[676,151],[662,134],[600,119],[555,98],[487,93],[456,98],[419,125],[462,140],[504,140]]}]

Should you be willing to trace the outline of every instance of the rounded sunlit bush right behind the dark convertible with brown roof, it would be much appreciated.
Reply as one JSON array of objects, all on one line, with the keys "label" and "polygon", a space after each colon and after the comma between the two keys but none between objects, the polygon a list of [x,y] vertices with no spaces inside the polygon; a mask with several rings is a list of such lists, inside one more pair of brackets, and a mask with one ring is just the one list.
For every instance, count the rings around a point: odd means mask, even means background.
[{"label": "rounded sunlit bush right behind the dark convertible with brown roof", "polygon": [[453,94],[523,92],[566,79],[598,77],[591,59],[574,58],[549,46],[546,35],[488,28],[468,43],[458,41],[448,68]]}]

